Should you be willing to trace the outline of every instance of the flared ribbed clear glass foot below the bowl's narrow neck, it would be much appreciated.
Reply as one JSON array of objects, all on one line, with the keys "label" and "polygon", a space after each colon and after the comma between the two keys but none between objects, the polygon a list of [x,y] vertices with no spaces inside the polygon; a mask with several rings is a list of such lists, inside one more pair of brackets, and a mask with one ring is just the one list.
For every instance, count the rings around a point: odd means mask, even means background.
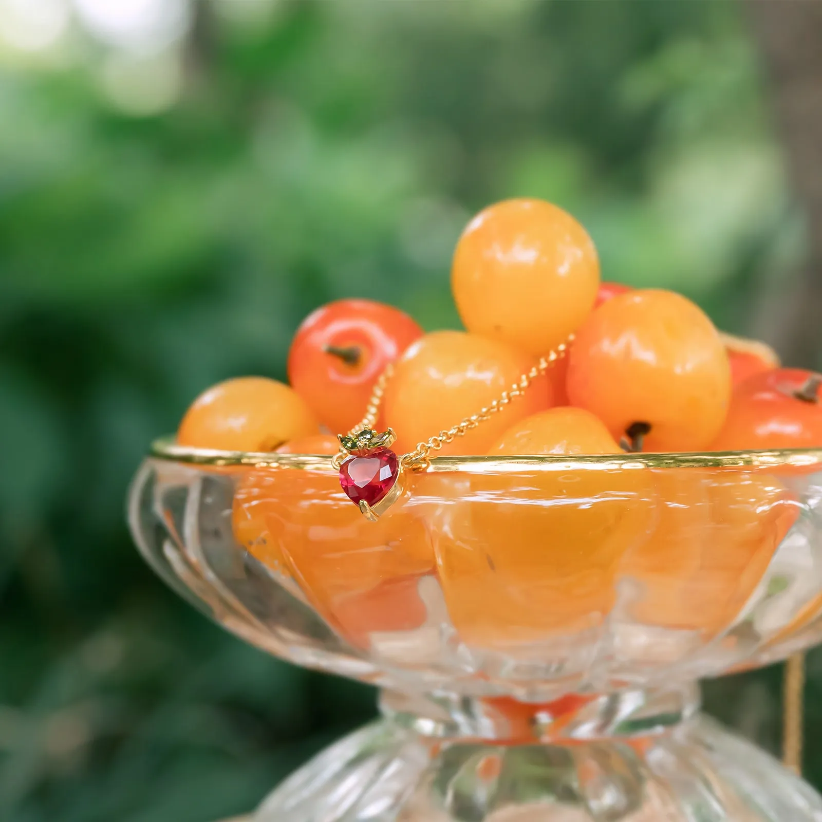
[{"label": "flared ribbed clear glass foot below the bowl's narrow neck", "polygon": [[252,822],[822,820],[801,778],[687,710],[652,734],[524,743],[423,733],[424,721],[386,713],[299,769]]}]

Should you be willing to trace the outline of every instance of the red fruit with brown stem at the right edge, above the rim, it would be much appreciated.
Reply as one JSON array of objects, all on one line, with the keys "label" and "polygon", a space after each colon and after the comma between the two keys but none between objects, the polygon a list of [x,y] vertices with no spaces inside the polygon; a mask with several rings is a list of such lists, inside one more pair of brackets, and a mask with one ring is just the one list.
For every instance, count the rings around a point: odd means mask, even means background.
[{"label": "red fruit with brown stem at the right edge, above the rim", "polygon": [[713,450],[822,447],[822,389],[815,401],[797,398],[813,376],[801,368],[775,368],[742,381]]}]

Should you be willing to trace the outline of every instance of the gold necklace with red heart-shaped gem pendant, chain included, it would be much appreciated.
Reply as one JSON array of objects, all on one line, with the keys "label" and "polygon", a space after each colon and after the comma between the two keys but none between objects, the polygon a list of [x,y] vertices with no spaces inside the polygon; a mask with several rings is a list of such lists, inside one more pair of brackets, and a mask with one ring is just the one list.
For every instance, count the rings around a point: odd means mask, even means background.
[{"label": "gold necklace with red heart-shaped gem pendant, chain included", "polygon": [[464,436],[495,413],[501,412],[514,399],[524,395],[538,376],[543,376],[566,357],[573,339],[574,335],[570,335],[564,343],[557,345],[556,349],[539,358],[537,364],[520,376],[509,390],[503,391],[497,399],[479,409],[478,413],[464,418],[455,426],[423,442],[418,442],[414,450],[401,457],[397,457],[390,450],[396,439],[394,430],[389,428],[385,432],[376,432],[374,428],[382,399],[386,394],[386,386],[394,376],[394,366],[389,364],[376,381],[363,419],[348,434],[337,435],[339,452],[334,457],[334,467],[339,470],[340,484],[344,492],[359,506],[367,520],[376,522],[402,493],[406,471],[424,471],[431,464],[432,451],[440,450],[458,436]]}]

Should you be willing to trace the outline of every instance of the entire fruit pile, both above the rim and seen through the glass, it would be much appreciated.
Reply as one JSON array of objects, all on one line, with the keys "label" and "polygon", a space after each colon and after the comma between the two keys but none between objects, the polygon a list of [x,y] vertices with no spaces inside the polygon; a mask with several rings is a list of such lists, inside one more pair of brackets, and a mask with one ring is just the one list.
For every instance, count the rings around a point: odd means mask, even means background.
[{"label": "entire fruit pile, both above the rim and seen through the glass", "polygon": [[[402,455],[572,339],[523,395],[438,453],[822,446],[822,377],[720,334],[677,293],[601,282],[593,242],[555,205],[483,210],[459,238],[451,284],[466,330],[425,334],[394,307],[330,303],[293,339],[290,386],[214,386],[187,411],[179,444],[335,454],[336,435],[363,418],[393,363],[376,428],[394,429]],[[244,469],[234,532],[353,644],[423,625],[420,582],[432,577],[460,635],[498,646],[595,624],[614,606],[618,577],[641,591],[631,618],[718,630],[796,516],[783,483],[752,470],[588,473],[578,483],[550,472],[420,473],[405,504],[371,523],[328,473]]]}]

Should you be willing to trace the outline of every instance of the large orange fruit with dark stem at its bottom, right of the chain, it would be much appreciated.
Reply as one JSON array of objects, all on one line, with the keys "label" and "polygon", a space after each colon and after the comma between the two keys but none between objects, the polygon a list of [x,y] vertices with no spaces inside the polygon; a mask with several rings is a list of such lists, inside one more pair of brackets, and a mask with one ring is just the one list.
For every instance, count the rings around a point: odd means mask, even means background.
[{"label": "large orange fruit with dark stem at its bottom, right of the chain", "polygon": [[617,441],[633,423],[649,423],[644,450],[695,451],[723,425],[731,369],[717,330],[693,302],[636,290],[603,303],[580,328],[567,390]]}]

